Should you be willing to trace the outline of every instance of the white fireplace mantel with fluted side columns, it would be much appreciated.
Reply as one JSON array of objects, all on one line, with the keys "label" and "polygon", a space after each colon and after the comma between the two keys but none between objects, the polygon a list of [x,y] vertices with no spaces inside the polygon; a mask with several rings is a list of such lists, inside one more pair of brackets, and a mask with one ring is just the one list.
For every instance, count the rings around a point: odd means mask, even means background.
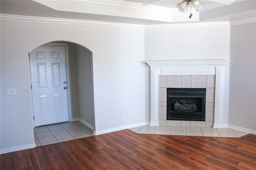
[{"label": "white fireplace mantel with fluted side columns", "polygon": [[150,66],[150,126],[158,123],[159,75],[215,75],[214,128],[223,128],[224,68],[230,61],[148,61]]}]

